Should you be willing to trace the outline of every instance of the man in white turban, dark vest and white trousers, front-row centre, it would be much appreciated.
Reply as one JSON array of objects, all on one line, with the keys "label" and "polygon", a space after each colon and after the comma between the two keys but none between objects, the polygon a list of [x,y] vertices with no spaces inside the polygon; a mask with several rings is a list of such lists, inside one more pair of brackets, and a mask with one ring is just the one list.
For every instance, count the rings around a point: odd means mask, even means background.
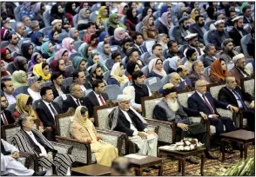
[{"label": "man in white turban, dark vest and white trousers, front-row centre", "polygon": [[146,121],[131,108],[131,95],[118,95],[118,107],[109,115],[111,130],[124,132],[138,146],[139,154],[157,156],[158,135],[146,128]]}]

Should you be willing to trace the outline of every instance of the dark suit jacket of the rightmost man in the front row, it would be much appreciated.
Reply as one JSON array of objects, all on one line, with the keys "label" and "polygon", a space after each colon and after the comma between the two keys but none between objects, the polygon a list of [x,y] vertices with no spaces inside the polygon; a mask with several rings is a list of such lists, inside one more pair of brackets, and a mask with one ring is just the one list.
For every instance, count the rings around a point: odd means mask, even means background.
[{"label": "dark suit jacket of the rightmost man in the front row", "polygon": [[[244,92],[241,88],[239,88],[238,86],[234,89],[241,97],[241,99],[245,102],[252,102],[254,100],[253,96]],[[239,107],[239,104],[237,102],[237,99],[235,98],[235,96],[232,94],[232,92],[224,87],[221,88],[219,90],[219,95],[218,95],[218,99],[220,102],[226,102],[228,104],[232,104],[235,107]]]}]

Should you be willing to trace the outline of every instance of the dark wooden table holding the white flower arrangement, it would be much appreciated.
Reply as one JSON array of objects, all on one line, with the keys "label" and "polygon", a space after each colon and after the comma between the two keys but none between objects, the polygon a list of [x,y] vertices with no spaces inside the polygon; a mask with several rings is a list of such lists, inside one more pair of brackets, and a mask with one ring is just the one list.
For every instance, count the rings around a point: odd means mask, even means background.
[{"label": "dark wooden table holding the white flower arrangement", "polygon": [[201,175],[204,175],[205,147],[199,147],[198,149],[192,151],[172,151],[158,147],[158,155],[162,156],[163,154],[172,155],[179,160],[179,172],[182,169],[183,176],[185,176],[185,159],[189,156],[201,155]]}]

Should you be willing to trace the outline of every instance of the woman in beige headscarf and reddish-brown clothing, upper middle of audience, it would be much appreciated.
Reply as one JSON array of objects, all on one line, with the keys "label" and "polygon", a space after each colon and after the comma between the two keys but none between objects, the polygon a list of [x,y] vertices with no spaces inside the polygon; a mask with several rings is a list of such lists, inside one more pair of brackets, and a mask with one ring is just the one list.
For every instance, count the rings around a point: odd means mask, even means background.
[{"label": "woman in beige headscarf and reddish-brown clothing, upper middle of audience", "polygon": [[140,30],[145,41],[155,39],[155,36],[158,35],[158,29],[154,24],[153,16],[145,16]]}]

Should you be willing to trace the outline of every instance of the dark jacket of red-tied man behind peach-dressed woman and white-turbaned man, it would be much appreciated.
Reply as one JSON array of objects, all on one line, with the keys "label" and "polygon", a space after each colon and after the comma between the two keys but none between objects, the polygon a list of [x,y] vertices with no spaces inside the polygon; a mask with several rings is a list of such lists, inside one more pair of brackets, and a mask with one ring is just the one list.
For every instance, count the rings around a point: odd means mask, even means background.
[{"label": "dark jacket of red-tied man behind peach-dressed woman and white-turbaned man", "polygon": [[[109,96],[105,93],[102,94],[102,97],[104,99],[104,102],[107,102],[109,100]],[[98,98],[96,97],[93,91],[86,95],[85,102],[89,110],[89,116],[93,117],[93,107],[99,106]]]}]

